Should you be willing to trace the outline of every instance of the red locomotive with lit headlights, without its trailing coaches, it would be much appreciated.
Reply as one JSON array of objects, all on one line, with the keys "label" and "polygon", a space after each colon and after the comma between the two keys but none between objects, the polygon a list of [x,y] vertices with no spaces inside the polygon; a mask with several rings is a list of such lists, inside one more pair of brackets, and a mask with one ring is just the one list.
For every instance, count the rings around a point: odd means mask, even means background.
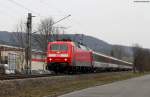
[{"label": "red locomotive with lit headlights, without its trailing coaches", "polygon": [[54,72],[85,71],[92,67],[92,52],[72,41],[49,42],[47,68]]}]

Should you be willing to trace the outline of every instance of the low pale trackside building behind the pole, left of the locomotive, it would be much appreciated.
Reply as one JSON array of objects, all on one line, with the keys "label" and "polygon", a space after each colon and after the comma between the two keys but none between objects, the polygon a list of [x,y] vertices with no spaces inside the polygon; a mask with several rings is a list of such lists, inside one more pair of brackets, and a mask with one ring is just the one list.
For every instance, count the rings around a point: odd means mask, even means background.
[{"label": "low pale trackside building behind the pole, left of the locomotive", "polygon": [[[33,50],[31,70],[45,70],[45,58],[45,53]],[[12,72],[25,71],[27,66],[24,49],[9,45],[0,45],[0,64],[5,65]]]}]

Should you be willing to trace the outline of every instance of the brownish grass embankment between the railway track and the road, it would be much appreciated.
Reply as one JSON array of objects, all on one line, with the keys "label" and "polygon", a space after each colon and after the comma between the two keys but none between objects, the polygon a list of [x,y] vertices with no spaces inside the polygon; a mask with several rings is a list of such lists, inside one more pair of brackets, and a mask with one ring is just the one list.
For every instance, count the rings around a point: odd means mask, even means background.
[{"label": "brownish grass embankment between the railway track and the road", "polygon": [[144,74],[113,72],[83,75],[68,75],[49,78],[0,81],[0,97],[56,97],[64,93],[114,81],[125,80]]}]

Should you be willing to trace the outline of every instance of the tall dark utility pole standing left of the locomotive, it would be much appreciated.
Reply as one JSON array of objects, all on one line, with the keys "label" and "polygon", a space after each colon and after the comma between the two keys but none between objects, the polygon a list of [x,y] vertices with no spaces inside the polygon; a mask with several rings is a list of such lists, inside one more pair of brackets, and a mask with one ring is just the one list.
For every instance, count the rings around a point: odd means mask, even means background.
[{"label": "tall dark utility pole standing left of the locomotive", "polygon": [[27,18],[27,34],[26,34],[26,48],[25,48],[25,58],[26,58],[26,74],[31,74],[31,60],[32,60],[32,50],[31,50],[31,33],[32,33],[32,13],[28,13]]}]

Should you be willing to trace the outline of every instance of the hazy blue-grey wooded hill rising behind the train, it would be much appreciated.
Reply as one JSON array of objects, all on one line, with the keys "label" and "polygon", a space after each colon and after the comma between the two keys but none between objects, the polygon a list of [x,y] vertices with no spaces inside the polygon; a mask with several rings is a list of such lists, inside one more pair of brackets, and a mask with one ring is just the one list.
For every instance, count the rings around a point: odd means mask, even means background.
[{"label": "hazy blue-grey wooded hill rising behind the train", "polygon": [[[131,47],[127,46],[121,46],[121,45],[111,45],[103,40],[97,39],[92,36],[87,36],[83,34],[64,34],[64,35],[54,35],[53,37],[49,37],[49,40],[56,40],[57,39],[72,39],[76,42],[81,42],[84,45],[88,46],[89,48],[93,49],[94,51],[107,54],[107,55],[112,55],[114,57],[120,58],[120,59],[125,59],[125,60],[130,60],[126,58],[132,57],[132,49]],[[10,32],[7,31],[0,31],[0,44],[7,44],[7,45],[13,45],[17,46],[17,43],[15,43],[13,39],[13,35]],[[39,49],[36,46],[33,46],[34,49]],[[122,55],[118,55],[120,53],[120,50],[122,51]]]}]

